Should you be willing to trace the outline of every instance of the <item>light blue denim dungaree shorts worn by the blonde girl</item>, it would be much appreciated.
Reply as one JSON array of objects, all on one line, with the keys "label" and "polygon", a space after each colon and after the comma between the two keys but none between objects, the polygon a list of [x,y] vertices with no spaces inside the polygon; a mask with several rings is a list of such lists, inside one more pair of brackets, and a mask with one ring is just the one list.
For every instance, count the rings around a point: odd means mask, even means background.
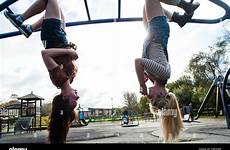
[{"label": "light blue denim dungaree shorts worn by the blonde girl", "polygon": [[157,16],[151,19],[151,21],[148,23],[148,38],[144,41],[143,44],[143,58],[148,58],[148,47],[152,43],[158,43],[161,44],[165,55],[168,59],[168,53],[167,53],[167,44],[168,44],[168,38],[169,38],[169,24],[167,22],[167,18],[165,16]]}]

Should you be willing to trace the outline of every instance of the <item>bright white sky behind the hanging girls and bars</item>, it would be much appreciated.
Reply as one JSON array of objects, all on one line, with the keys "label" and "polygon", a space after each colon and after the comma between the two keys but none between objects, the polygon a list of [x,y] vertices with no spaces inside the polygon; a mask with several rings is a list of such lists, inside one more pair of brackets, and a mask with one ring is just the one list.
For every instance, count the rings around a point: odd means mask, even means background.
[{"label": "bright white sky behind the hanging girls and bars", "polygon": [[[0,0],[0,3],[3,0]],[[21,13],[35,0],[20,0],[11,6]],[[195,0],[196,1],[196,0]],[[229,0],[224,0],[230,4]],[[91,19],[112,18],[117,14],[116,0],[88,0]],[[123,0],[122,17],[140,17],[144,0]],[[208,0],[199,1],[201,6],[194,18],[217,18],[224,11]],[[85,20],[83,0],[60,1],[68,21]],[[174,6],[167,9],[183,12]],[[42,14],[41,14],[42,15]],[[37,15],[26,23],[32,23]],[[0,33],[16,31],[13,25],[0,13]],[[183,75],[193,54],[206,51],[218,37],[223,35],[223,23],[187,24],[180,28],[170,23],[168,43],[172,76],[169,82]],[[135,92],[138,97],[139,85],[134,69],[134,59],[141,57],[145,30],[142,22],[105,23],[67,28],[68,39],[77,43],[79,54],[78,74],[73,87],[79,91],[79,103],[83,107],[106,107],[123,105],[123,93]],[[0,40],[0,102],[9,100],[11,94],[19,96],[33,91],[51,101],[58,93],[51,81],[41,58],[43,49],[40,32],[30,38],[16,36]],[[149,83],[148,83],[149,84]]]}]

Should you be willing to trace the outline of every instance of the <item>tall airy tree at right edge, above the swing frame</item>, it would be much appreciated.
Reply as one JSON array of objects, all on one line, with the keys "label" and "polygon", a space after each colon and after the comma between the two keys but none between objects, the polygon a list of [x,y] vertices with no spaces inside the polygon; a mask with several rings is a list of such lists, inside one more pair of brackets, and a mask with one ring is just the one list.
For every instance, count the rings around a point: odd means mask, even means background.
[{"label": "tall airy tree at right edge, above the swing frame", "polygon": [[192,57],[188,71],[192,74],[196,85],[210,83],[226,72],[229,67],[226,55],[230,43],[228,37],[229,35],[225,35],[219,38],[213,46],[209,46],[207,52],[202,51]]}]

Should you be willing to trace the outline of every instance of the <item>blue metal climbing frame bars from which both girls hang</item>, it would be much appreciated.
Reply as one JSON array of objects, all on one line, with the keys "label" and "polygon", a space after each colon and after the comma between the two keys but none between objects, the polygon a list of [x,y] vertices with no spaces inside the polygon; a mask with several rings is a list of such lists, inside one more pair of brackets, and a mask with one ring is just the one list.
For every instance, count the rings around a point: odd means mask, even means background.
[{"label": "blue metal climbing frame bars from which both girls hang", "polygon": [[[3,11],[4,9],[9,9],[9,6],[13,3],[15,3],[18,0],[6,0],[3,3],[0,4],[0,12]],[[190,23],[205,23],[205,24],[214,24],[214,23],[219,23],[221,21],[224,21],[226,19],[230,19],[230,7],[223,2],[222,0],[209,0],[210,2],[220,6],[225,10],[224,16],[217,18],[217,19],[191,19],[189,22]],[[193,0],[191,0],[193,2]],[[121,0],[117,0],[117,5],[118,5],[118,10],[117,10],[117,16],[114,18],[108,18],[108,19],[96,19],[92,20],[91,19],[91,14],[90,10],[88,7],[88,2],[87,0],[84,0],[84,5],[85,5],[85,10],[87,13],[87,20],[85,21],[75,21],[75,22],[67,22],[66,26],[78,26],[78,25],[86,25],[86,24],[97,24],[97,23],[112,23],[112,22],[130,22],[130,21],[142,21],[142,17],[128,17],[128,18],[123,18],[121,16]],[[7,38],[7,37],[12,37],[12,36],[17,36],[20,35],[21,33],[19,31],[17,32],[8,32],[8,33],[0,33],[0,39]]]}]

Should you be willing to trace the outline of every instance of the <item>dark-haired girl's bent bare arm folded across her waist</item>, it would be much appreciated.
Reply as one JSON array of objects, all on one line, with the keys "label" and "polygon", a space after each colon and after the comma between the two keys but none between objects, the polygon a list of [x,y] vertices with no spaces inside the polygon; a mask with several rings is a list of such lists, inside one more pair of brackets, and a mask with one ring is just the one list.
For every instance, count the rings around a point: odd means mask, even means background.
[{"label": "dark-haired girl's bent bare arm folded across her waist", "polygon": [[78,55],[76,51],[72,49],[63,49],[63,48],[50,48],[42,50],[42,58],[48,70],[52,70],[58,66],[54,58],[61,55],[70,55],[72,59],[77,59]]}]

